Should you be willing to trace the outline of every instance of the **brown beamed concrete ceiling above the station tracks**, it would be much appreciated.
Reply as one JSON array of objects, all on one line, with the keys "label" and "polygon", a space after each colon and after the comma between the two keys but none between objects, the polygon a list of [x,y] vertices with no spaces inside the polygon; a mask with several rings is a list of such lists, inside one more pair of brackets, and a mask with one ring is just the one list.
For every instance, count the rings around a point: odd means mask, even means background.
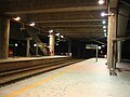
[{"label": "brown beamed concrete ceiling above the station tracks", "polygon": [[0,0],[0,12],[53,29],[66,38],[104,37],[101,13],[106,5],[99,0]]}]

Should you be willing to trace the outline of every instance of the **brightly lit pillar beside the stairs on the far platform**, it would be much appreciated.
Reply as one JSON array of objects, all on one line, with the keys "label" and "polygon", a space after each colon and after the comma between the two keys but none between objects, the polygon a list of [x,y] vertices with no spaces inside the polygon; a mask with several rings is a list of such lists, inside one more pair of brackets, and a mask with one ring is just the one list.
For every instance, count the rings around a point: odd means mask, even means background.
[{"label": "brightly lit pillar beside the stairs on the far platform", "polygon": [[49,47],[50,47],[50,56],[54,55],[54,33],[50,33],[50,39],[49,39]]}]

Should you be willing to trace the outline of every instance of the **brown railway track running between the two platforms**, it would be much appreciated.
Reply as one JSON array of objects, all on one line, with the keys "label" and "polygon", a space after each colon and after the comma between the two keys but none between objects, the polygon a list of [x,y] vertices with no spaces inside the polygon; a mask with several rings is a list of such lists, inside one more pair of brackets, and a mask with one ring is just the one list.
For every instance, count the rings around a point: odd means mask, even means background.
[{"label": "brown railway track running between the two platforms", "polygon": [[10,70],[0,72],[0,86],[8,85],[17,81],[21,81],[23,79],[27,79],[50,70],[54,70],[61,67],[65,67],[78,61],[81,61],[82,59],[65,59],[62,61],[54,61],[50,64],[43,64],[43,65],[37,65],[28,68],[22,68],[16,70]]}]

